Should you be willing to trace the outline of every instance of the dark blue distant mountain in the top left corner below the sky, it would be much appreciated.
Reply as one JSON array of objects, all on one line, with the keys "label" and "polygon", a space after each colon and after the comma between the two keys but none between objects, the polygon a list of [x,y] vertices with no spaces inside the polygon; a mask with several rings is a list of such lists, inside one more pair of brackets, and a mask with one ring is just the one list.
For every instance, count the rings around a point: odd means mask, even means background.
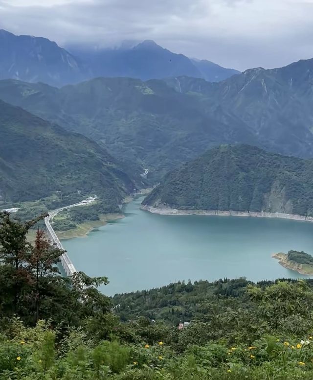
[{"label": "dark blue distant mountain in the top left corner below the sky", "polygon": [[86,78],[80,61],[46,38],[16,36],[2,29],[0,51],[0,79],[61,86]]}]

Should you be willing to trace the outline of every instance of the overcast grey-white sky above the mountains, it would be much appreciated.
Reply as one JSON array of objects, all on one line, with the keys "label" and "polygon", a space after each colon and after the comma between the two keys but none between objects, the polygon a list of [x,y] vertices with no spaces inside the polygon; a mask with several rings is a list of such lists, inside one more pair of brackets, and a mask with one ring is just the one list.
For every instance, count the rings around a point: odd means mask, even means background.
[{"label": "overcast grey-white sky above the mountains", "polygon": [[63,47],[152,39],[242,71],[313,57],[313,0],[0,0],[0,28]]}]

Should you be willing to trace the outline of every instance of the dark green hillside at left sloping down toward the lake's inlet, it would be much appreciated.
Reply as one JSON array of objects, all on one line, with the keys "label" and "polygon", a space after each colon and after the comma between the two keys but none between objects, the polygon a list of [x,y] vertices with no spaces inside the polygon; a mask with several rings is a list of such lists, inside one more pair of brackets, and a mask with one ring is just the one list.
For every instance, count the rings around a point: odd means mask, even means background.
[{"label": "dark green hillside at left sloping down toward the lake's inlet", "polygon": [[0,199],[97,194],[114,210],[133,180],[96,142],[0,101]]}]

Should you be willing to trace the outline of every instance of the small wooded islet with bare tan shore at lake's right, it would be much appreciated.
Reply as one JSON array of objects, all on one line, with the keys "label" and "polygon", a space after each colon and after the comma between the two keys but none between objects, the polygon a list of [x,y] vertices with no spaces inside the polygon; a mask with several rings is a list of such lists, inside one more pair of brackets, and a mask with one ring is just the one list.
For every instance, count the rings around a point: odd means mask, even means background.
[{"label": "small wooded islet with bare tan shore at lake's right", "polygon": [[285,268],[295,270],[300,274],[313,275],[313,257],[306,252],[274,253],[272,258],[279,260],[280,265]]}]

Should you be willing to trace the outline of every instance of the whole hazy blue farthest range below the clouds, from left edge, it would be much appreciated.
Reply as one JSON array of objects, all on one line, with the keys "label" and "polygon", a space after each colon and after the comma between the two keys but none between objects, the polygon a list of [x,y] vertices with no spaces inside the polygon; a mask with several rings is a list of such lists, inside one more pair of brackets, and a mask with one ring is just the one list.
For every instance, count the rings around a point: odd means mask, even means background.
[{"label": "whole hazy blue farthest range below the clouds, from left edge", "polygon": [[175,54],[149,40],[127,48],[76,47],[71,54],[46,38],[16,36],[2,29],[0,51],[0,79],[44,82],[57,87],[97,76],[148,80],[188,75],[217,82],[239,73]]}]

